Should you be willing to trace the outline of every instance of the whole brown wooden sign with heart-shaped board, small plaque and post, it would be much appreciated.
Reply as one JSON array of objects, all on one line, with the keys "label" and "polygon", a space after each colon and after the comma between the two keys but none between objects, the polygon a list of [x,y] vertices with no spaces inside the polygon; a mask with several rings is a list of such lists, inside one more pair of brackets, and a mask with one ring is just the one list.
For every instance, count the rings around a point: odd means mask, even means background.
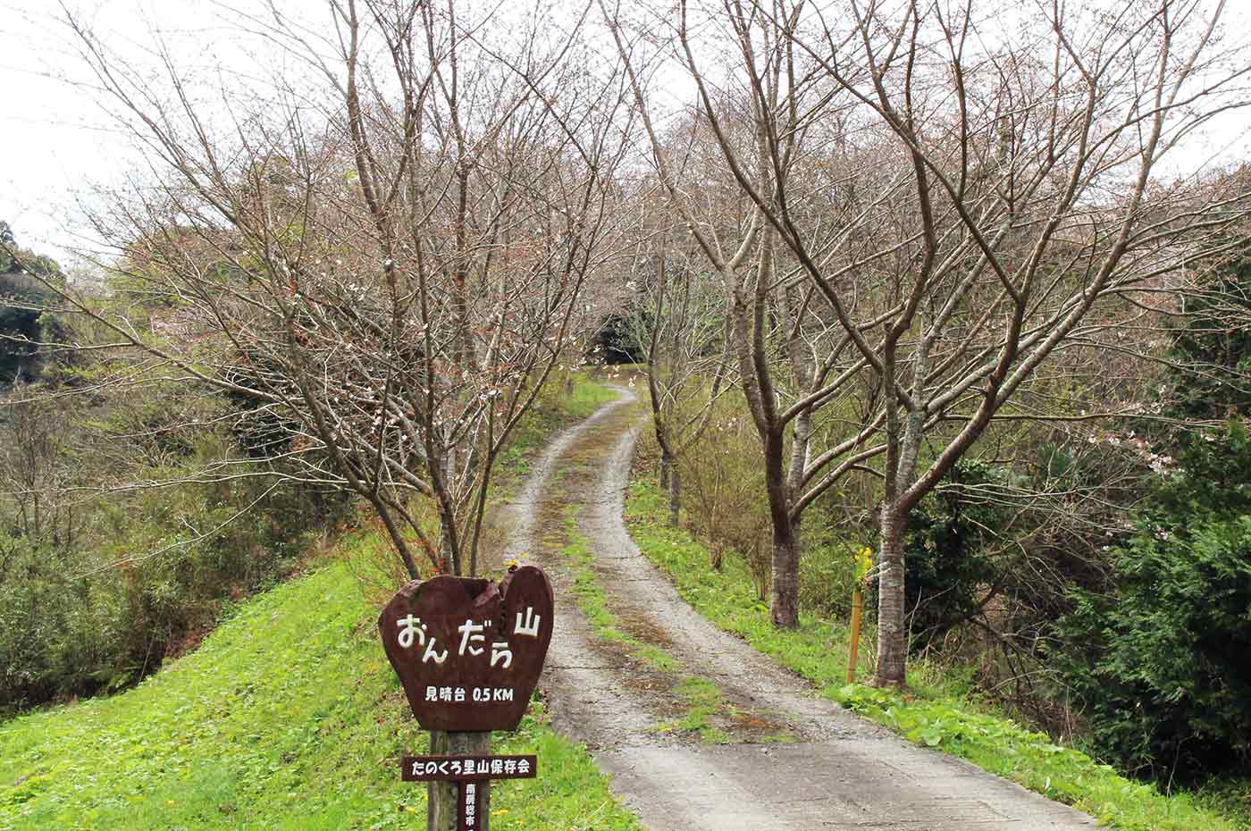
[{"label": "whole brown wooden sign with heart-shaped board, small plaque and post", "polygon": [[428,831],[489,831],[490,780],[534,776],[532,756],[490,755],[490,731],[515,730],[525,715],[552,611],[547,574],[522,566],[499,583],[413,581],[378,617],[387,658],[430,731],[432,755],[405,757],[402,770],[405,781],[428,783]]}]

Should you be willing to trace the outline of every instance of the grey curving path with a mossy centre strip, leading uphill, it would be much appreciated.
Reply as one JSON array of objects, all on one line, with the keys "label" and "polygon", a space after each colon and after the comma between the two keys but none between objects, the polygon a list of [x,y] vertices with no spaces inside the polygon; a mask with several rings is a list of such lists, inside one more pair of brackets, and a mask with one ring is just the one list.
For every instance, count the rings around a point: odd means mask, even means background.
[{"label": "grey curving path with a mossy centre strip, leading uphill", "polygon": [[[555,727],[585,742],[652,831],[1076,831],[1096,822],[955,757],[913,746],[837,705],[699,617],[622,521],[634,394],[557,437],[510,506],[509,557],[553,578],[557,623],[542,688]],[[577,529],[617,626],[673,662],[659,670],[598,637],[560,549]],[[677,728],[682,680],[719,693],[717,741]]]}]

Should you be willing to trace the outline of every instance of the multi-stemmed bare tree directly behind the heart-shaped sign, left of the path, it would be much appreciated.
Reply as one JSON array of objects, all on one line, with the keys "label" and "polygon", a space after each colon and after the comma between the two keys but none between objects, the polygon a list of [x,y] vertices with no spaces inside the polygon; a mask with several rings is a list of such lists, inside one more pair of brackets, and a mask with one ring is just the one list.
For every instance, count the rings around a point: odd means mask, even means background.
[{"label": "multi-stemmed bare tree directly behind the heart-shaped sign, left of the path", "polygon": [[164,43],[153,80],[69,19],[154,174],[96,217],[144,320],[50,288],[249,402],[283,476],[360,494],[410,576],[473,574],[494,461],[613,244],[615,69],[578,15],[229,11],[301,69],[204,104]]}]

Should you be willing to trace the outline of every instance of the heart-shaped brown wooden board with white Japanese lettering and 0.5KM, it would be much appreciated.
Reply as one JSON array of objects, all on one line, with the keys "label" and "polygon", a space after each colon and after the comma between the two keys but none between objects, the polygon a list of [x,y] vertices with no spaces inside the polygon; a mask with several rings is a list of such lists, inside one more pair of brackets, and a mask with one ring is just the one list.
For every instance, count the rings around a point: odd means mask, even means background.
[{"label": "heart-shaped brown wooden board with white Japanese lettering and 0.5KM", "polygon": [[378,617],[387,658],[425,730],[515,730],[552,642],[552,583],[522,566],[498,584],[413,581]]}]

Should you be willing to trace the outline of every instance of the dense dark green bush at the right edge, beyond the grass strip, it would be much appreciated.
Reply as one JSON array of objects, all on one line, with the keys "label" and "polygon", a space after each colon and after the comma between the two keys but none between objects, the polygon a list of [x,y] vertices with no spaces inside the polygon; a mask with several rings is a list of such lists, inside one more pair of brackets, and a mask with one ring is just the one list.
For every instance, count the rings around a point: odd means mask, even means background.
[{"label": "dense dark green bush at the right edge, beyond the grass strip", "polygon": [[1178,454],[1112,592],[1073,592],[1056,655],[1097,750],[1163,781],[1251,760],[1251,441],[1232,423]]}]

